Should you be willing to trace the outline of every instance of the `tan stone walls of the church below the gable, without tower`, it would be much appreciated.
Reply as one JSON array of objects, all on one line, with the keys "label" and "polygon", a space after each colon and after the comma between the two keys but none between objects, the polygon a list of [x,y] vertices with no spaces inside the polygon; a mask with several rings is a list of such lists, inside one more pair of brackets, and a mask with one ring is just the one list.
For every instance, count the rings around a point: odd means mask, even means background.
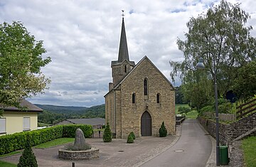
[{"label": "tan stone walls of the church below the gable, without tower", "polygon": [[[144,79],[148,81],[148,95],[144,95]],[[164,122],[169,134],[175,134],[174,87],[144,57],[122,82],[105,96],[106,120],[117,138],[125,138],[131,131],[141,136],[141,117],[144,112],[151,115],[151,134],[159,135]],[[132,95],[135,102],[132,103]],[[159,94],[159,103],[156,96]]]}]

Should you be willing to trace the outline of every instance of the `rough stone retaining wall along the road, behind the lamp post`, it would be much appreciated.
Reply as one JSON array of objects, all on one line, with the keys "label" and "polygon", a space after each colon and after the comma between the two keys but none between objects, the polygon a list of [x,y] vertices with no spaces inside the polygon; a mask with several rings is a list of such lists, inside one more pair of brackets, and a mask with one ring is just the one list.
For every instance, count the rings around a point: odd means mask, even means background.
[{"label": "rough stone retaining wall along the road, behind the lamp post", "polygon": [[[215,137],[215,122],[204,117],[198,117],[200,124]],[[219,124],[220,144],[229,145],[234,139],[256,127],[256,112],[232,124]],[[254,133],[255,134],[255,133]],[[254,135],[252,134],[252,135]]]}]

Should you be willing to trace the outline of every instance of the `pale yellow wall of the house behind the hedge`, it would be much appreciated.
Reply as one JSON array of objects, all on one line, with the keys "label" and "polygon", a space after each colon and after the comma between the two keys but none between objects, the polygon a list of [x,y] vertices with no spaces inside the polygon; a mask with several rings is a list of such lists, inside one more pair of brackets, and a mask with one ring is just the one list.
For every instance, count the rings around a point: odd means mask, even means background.
[{"label": "pale yellow wall of the house behind the hedge", "polygon": [[[37,112],[4,112],[6,118],[6,134],[14,134],[23,131],[23,117],[30,117],[30,129],[38,128]],[[5,135],[5,134],[0,134]]]}]

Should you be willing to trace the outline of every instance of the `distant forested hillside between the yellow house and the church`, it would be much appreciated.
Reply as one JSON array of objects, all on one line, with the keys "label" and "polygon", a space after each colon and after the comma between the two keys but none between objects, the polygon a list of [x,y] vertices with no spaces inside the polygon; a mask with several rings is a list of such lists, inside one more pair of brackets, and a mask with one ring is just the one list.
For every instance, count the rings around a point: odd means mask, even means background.
[{"label": "distant forested hillside between the yellow house and the church", "polygon": [[38,114],[38,122],[45,124],[55,124],[64,119],[78,118],[105,118],[105,104],[92,107],[65,107],[36,104],[43,109],[43,113]]}]

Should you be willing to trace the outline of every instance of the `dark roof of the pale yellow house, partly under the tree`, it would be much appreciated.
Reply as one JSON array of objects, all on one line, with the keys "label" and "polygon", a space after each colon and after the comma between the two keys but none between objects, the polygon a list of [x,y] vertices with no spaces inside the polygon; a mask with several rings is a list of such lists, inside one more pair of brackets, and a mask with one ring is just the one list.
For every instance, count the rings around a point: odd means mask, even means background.
[{"label": "dark roof of the pale yellow house, partly under the tree", "polygon": [[20,106],[23,107],[23,109],[18,109],[17,107],[1,107],[0,109],[3,109],[5,111],[25,111],[25,112],[43,112],[43,109],[37,107],[35,104],[32,104],[31,102],[28,102],[26,99],[21,99]]}]

